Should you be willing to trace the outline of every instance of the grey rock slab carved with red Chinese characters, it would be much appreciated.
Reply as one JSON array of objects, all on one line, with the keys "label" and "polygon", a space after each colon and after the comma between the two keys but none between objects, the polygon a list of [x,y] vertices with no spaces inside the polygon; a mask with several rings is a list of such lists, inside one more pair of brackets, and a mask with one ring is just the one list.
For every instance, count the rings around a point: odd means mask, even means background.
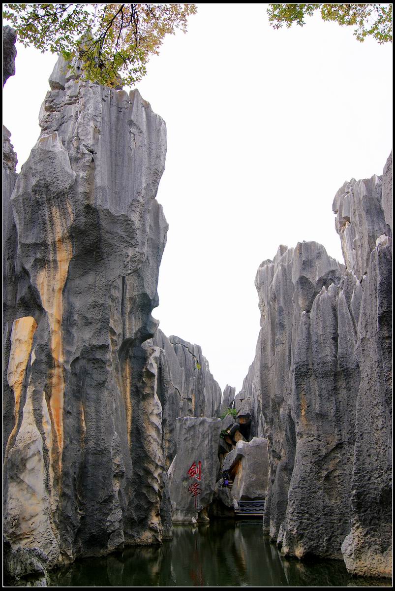
[{"label": "grey rock slab carved with red Chinese characters", "polygon": [[174,523],[207,521],[219,461],[219,418],[179,417],[177,455],[168,470]]}]

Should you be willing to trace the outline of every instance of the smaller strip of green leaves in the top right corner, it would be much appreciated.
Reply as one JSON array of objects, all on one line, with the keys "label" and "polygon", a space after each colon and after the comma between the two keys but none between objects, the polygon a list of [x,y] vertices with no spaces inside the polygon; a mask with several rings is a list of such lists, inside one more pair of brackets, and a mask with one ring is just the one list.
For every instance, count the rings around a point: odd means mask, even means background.
[{"label": "smaller strip of green leaves in the top right corner", "polygon": [[269,4],[267,14],[275,29],[283,24],[290,27],[293,22],[303,27],[305,17],[311,17],[317,9],[324,21],[354,26],[358,41],[366,37],[380,44],[392,41],[392,4]]}]

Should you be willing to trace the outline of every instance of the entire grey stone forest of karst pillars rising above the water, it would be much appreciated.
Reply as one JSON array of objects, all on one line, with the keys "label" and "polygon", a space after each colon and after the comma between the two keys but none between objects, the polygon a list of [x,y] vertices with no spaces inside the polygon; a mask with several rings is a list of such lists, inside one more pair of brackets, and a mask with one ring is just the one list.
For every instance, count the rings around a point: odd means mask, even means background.
[{"label": "entire grey stone forest of karst pillars rising above the water", "polygon": [[[6,81],[10,27],[4,43]],[[19,174],[3,128],[6,580],[45,586],[249,503],[285,560],[389,579],[391,154],[334,196],[344,264],[304,241],[262,262],[256,355],[221,392],[201,347],[151,316],[165,122],[62,57],[49,83]]]}]

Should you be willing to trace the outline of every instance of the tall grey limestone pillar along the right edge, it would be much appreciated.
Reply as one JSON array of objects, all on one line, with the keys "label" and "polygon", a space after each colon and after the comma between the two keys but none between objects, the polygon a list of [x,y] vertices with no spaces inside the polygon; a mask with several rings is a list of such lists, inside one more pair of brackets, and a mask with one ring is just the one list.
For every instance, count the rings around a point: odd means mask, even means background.
[{"label": "tall grey limestone pillar along the right edge", "polygon": [[347,267],[363,288],[355,357],[361,379],[355,415],[347,569],[391,576],[392,569],[392,155],[383,176],[345,183],[334,200]]}]

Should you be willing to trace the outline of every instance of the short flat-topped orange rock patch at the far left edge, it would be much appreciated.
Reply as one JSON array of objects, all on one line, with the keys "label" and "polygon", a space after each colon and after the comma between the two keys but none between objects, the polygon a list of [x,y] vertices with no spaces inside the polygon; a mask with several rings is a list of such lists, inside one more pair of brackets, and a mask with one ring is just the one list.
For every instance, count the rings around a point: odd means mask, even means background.
[{"label": "short flat-topped orange rock patch at the far left edge", "polygon": [[33,337],[37,329],[37,322],[32,316],[24,316],[14,320],[11,331],[11,351],[7,368],[7,381],[14,391],[14,415],[15,425],[8,437],[8,445],[17,430],[19,406],[21,404],[22,384],[25,377],[27,364],[30,357]]}]

